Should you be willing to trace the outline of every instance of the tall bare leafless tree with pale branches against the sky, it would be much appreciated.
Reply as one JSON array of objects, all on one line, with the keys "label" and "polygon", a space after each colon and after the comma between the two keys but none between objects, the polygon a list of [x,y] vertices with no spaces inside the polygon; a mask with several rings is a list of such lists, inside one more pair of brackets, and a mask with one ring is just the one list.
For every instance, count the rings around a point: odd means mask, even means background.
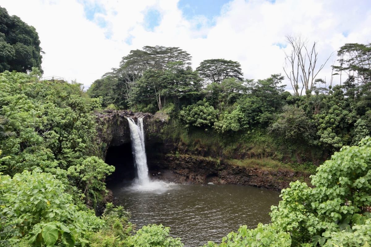
[{"label": "tall bare leafless tree with pale branches against the sky", "polygon": [[[325,63],[321,64],[319,68],[316,67],[318,60],[318,52],[316,51],[316,44],[314,42],[312,47],[308,47],[308,41],[298,36],[286,36],[286,41],[291,46],[291,53],[288,54],[284,49],[286,66],[283,67],[287,78],[290,80],[292,89],[295,95],[302,95],[303,89],[306,94],[311,94],[313,86],[315,85],[315,78],[321,71],[332,54],[326,59]],[[299,86],[299,77],[302,86]],[[300,90],[301,88],[301,90]],[[300,93],[299,93],[300,91]]]}]

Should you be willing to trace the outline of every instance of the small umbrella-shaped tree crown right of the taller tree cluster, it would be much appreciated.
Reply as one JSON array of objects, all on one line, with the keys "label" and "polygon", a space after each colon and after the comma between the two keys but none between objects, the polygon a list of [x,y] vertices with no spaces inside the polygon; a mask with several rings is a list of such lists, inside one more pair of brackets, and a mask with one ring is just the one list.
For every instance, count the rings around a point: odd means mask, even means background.
[{"label": "small umbrella-shaped tree crown right of the taller tree cluster", "polygon": [[243,80],[239,62],[225,59],[209,59],[200,63],[196,69],[200,76],[209,83],[220,84],[226,78]]}]

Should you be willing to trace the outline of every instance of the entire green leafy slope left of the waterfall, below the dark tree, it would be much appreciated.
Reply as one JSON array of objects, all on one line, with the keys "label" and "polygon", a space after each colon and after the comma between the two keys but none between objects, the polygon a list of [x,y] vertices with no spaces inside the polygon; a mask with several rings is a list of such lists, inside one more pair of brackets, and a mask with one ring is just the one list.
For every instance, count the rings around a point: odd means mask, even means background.
[{"label": "entire green leafy slope left of the waterfall, below the dark tree", "polygon": [[39,72],[0,74],[0,246],[183,246],[162,226],[132,235],[122,207],[96,217],[85,206],[101,202],[114,171],[97,157],[100,100]]}]

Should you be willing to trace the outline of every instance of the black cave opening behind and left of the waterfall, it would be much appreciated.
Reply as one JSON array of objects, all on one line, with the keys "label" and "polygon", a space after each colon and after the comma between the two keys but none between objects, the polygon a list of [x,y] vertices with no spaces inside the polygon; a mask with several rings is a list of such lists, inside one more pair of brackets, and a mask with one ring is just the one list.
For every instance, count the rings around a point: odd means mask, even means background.
[{"label": "black cave opening behind and left of the waterfall", "polygon": [[132,181],[136,176],[131,144],[110,146],[107,150],[105,162],[115,167],[114,173],[106,178],[108,187],[124,181]]}]

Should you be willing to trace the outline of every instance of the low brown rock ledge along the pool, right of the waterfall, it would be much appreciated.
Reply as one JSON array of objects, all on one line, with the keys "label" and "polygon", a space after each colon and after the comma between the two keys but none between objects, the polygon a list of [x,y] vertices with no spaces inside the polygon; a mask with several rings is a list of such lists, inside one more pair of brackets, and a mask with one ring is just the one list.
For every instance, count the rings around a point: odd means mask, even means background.
[{"label": "low brown rock ledge along the pool, right of the waterfall", "polygon": [[265,167],[240,167],[227,160],[216,160],[202,156],[167,154],[163,158],[151,159],[152,176],[173,183],[221,183],[255,186],[282,190],[291,181],[308,180],[309,174],[291,169],[274,170]]}]

